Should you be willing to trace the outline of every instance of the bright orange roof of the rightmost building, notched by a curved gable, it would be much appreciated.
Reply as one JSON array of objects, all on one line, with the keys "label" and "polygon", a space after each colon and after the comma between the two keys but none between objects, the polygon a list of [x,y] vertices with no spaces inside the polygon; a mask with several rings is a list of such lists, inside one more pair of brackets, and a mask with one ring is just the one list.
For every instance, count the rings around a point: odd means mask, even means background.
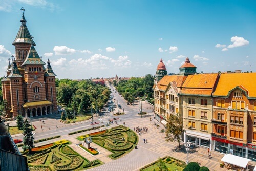
[{"label": "bright orange roof of the rightmost building, notched by a curved gable", "polygon": [[229,91],[239,86],[248,91],[249,97],[256,97],[256,73],[221,74],[214,96],[227,96]]}]

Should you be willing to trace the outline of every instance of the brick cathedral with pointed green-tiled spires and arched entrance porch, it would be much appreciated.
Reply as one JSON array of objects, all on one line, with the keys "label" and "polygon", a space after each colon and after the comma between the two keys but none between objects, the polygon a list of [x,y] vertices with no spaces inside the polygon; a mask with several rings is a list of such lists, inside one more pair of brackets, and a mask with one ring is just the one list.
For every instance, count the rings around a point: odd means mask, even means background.
[{"label": "brick cathedral with pointed green-tiled spires and arched entrance porch", "polygon": [[9,58],[6,76],[2,79],[3,99],[7,101],[7,117],[49,115],[57,111],[55,73],[48,59],[47,67],[35,49],[22,8],[22,25],[13,41],[15,58]]}]

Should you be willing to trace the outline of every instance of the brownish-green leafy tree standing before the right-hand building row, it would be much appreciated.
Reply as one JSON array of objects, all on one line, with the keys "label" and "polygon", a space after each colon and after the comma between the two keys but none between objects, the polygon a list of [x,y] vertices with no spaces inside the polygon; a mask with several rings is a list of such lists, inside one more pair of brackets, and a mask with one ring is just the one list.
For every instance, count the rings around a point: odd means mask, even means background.
[{"label": "brownish-green leafy tree standing before the right-hand building row", "polygon": [[181,135],[183,133],[183,125],[182,125],[182,116],[179,113],[175,115],[170,115],[169,119],[167,120],[166,124],[166,141],[167,142],[174,142],[175,140],[179,143],[181,142]]}]

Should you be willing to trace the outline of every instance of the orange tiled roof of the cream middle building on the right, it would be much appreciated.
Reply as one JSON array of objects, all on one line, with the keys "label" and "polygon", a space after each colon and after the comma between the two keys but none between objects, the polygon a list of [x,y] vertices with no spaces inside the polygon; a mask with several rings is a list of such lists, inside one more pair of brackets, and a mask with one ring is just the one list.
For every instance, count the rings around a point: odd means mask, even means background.
[{"label": "orange tiled roof of the cream middle building on the right", "polygon": [[182,88],[212,89],[214,88],[217,78],[218,73],[188,75],[182,85]]}]

